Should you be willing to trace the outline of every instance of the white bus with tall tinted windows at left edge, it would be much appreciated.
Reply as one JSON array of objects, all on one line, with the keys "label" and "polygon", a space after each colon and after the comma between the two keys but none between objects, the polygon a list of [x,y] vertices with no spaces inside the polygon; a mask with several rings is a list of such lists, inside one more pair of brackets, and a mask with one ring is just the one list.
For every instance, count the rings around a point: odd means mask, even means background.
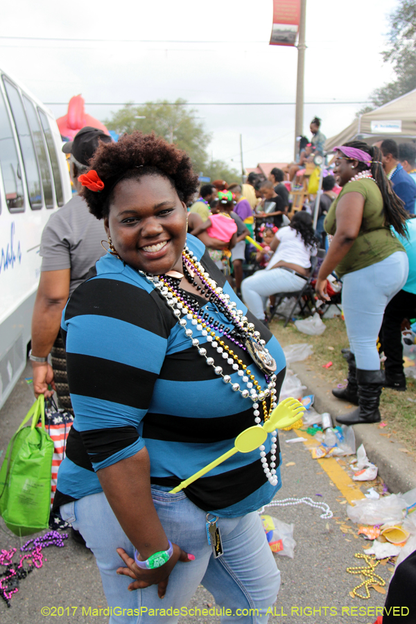
[{"label": "white bus with tall tinted windows at left edge", "polygon": [[53,114],[0,70],[0,408],[26,365],[42,230],[71,199]]}]

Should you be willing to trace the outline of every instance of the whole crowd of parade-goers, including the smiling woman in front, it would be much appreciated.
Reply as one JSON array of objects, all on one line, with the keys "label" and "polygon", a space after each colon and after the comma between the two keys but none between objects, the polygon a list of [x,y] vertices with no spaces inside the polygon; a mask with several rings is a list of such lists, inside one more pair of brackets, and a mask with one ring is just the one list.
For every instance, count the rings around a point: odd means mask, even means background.
[{"label": "whole crowd of parade-goers, including the smiling woman in front", "polygon": [[218,606],[259,609],[267,622],[279,571],[257,510],[281,487],[277,432],[171,489],[277,405],[285,361],[268,306],[302,291],[318,254],[317,300],[330,301],[330,276],[343,284],[349,374],[333,394],[357,409],[338,422],[378,422],[383,386],[406,388],[416,148],[336,147],[319,208],[311,198],[295,211],[291,180],[324,154],[319,119],[311,132],[297,162],[267,180],[202,187],[189,157],[155,135],[114,143],[84,128],[64,146],[79,194],[42,235],[33,386],[46,398],[55,390],[75,415],[54,506],[93,551],[110,606],[152,609],[164,598],[179,609],[202,583]]}]

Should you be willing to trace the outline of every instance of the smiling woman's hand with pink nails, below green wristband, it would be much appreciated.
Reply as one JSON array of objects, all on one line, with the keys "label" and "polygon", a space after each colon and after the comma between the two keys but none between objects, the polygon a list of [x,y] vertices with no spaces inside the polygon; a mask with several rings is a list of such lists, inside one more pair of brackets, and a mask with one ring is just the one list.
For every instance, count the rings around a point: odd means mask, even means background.
[{"label": "smiling woman's hand with pink nails, below green wristband", "polygon": [[117,548],[117,553],[119,553],[121,559],[127,566],[126,568],[117,569],[117,574],[124,574],[125,576],[130,576],[130,578],[135,579],[135,581],[128,586],[128,591],[144,589],[145,587],[149,587],[149,585],[157,585],[157,595],[159,598],[164,598],[166,587],[168,587],[169,575],[175,567],[175,564],[177,564],[178,561],[186,563],[195,560],[193,555],[182,551],[182,548],[177,546],[177,544],[172,544],[172,546],[173,555],[168,562],[153,570],[139,568],[135,560],[129,557],[123,548]]}]

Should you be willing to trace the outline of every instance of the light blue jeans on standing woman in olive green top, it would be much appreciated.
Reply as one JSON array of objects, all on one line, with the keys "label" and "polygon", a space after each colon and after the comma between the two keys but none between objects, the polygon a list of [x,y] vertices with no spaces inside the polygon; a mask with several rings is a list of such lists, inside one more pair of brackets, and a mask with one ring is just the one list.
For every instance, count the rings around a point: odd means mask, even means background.
[{"label": "light blue jeans on standing woman in olive green top", "polygon": [[377,338],[385,307],[403,288],[409,263],[405,252],[395,252],[343,277],[343,311],[349,347],[357,368],[379,370]]}]

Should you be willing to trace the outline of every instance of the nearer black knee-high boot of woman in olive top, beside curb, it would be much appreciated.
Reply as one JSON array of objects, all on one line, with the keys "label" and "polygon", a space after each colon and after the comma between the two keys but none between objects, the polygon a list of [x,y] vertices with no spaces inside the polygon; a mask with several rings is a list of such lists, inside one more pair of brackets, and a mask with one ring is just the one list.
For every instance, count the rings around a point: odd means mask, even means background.
[{"label": "nearer black knee-high boot of woman in olive top, beside curb", "polygon": [[384,385],[381,370],[361,370],[357,368],[358,409],[343,416],[337,416],[337,422],[346,425],[380,422],[380,395]]}]

